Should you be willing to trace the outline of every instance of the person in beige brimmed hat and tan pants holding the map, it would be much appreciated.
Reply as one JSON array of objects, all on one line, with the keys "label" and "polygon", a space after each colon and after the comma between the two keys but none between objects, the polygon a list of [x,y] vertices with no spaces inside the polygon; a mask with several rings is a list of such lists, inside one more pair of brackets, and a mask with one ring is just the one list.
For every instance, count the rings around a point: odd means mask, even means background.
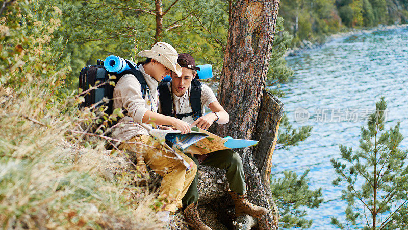
[{"label": "person in beige brimmed hat and tan pants holding the map", "polygon": [[[183,134],[191,132],[188,123],[164,116],[157,113],[158,109],[158,83],[170,72],[177,76],[182,75],[182,68],[177,63],[179,54],[168,43],[158,42],[150,50],[139,52],[139,56],[146,57],[146,61],[138,63],[136,73],[140,74],[147,83],[145,97],[142,94],[142,85],[132,74],[123,75],[113,91],[113,107],[127,110],[126,116],[121,118],[119,124],[113,131],[113,137],[127,142],[138,142],[140,144],[119,145],[120,149],[129,149],[144,157],[147,165],[152,170],[163,176],[160,186],[160,195],[167,197],[167,204],[163,211],[162,220],[167,221],[170,212],[175,212],[177,207],[182,206],[182,197],[187,192],[190,183],[197,172],[197,166],[188,156],[180,155],[191,165],[186,166],[173,159],[173,155],[164,150],[157,141],[153,140],[148,130],[154,122],[157,125],[171,125]],[[139,73],[140,72],[140,73]],[[146,147],[146,145],[155,148]]]}]

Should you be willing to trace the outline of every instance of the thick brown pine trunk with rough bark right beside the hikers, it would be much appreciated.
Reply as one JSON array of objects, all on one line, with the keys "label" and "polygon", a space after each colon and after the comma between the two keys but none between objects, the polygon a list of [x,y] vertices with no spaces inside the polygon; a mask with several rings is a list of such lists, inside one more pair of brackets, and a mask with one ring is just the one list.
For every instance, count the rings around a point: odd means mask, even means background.
[{"label": "thick brown pine trunk with rough bark right beside the hikers", "polygon": [[[261,229],[276,229],[279,221],[270,193],[269,176],[283,104],[264,94],[278,6],[279,0],[237,1],[235,4],[218,86],[218,100],[230,113],[230,122],[211,130],[219,136],[261,141],[258,151],[239,150],[248,198],[271,210],[258,219]],[[260,109],[264,113],[259,114]],[[270,118],[269,121],[266,118]],[[268,128],[263,127],[265,122]]]}]

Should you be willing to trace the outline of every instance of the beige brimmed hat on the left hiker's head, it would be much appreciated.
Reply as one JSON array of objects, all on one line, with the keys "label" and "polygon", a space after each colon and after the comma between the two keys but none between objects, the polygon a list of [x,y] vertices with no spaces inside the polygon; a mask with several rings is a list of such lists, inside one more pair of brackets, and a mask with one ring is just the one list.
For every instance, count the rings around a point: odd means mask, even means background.
[{"label": "beige brimmed hat on the left hiker's head", "polygon": [[182,76],[182,67],[177,63],[179,53],[166,42],[157,42],[150,50],[140,51],[137,55],[155,59],[172,70],[177,76]]}]

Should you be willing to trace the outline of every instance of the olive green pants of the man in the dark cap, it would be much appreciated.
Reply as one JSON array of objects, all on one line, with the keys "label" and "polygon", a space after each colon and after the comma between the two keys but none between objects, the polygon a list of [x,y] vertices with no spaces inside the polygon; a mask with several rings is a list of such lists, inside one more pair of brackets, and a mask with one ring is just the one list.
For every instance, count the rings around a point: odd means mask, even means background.
[{"label": "olive green pants of the man in the dark cap", "polygon": [[[198,160],[190,154],[186,154],[198,166]],[[236,193],[244,194],[246,192],[246,183],[244,175],[244,166],[239,154],[231,149],[219,150],[211,153],[201,165],[226,169],[226,178],[230,184],[230,190]],[[198,200],[198,171],[195,174],[193,182],[187,190],[186,195],[182,198],[183,210],[190,204],[196,203]]]}]

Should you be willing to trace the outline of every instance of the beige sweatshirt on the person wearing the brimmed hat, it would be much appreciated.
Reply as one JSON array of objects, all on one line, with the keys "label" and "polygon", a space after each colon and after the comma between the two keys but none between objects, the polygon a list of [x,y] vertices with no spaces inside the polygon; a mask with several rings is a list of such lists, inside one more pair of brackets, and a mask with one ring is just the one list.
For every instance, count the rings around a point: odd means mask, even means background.
[{"label": "beige sweatshirt on the person wearing the brimmed hat", "polygon": [[[157,112],[159,101],[158,82],[144,72],[142,65],[139,65],[138,69],[148,86],[145,98],[142,98],[142,87],[139,81],[132,74],[122,76],[113,90],[113,108],[124,108],[127,109],[128,113],[128,116],[121,118],[118,121],[120,124],[114,128],[112,137],[115,139],[129,140],[136,135],[149,135],[147,130],[138,124],[138,122],[142,122],[147,110]],[[151,127],[151,125],[149,126]]]}]

